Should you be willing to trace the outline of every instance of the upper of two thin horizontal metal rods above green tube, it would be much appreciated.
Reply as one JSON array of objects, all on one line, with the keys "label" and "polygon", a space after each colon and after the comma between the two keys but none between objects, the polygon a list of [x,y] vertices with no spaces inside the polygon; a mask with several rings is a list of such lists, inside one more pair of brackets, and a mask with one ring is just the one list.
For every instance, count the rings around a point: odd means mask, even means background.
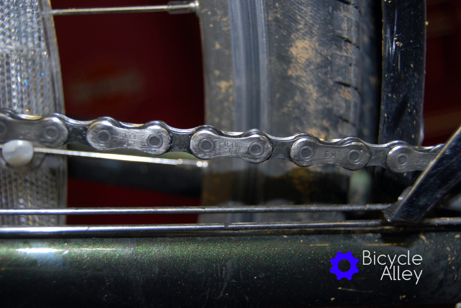
[{"label": "upper of two thin horizontal metal rods above green tube", "polygon": [[307,204],[307,205],[242,205],[233,207],[105,207],[105,208],[41,208],[0,209],[0,215],[112,215],[112,214],[217,214],[271,212],[381,211],[390,204]]}]

